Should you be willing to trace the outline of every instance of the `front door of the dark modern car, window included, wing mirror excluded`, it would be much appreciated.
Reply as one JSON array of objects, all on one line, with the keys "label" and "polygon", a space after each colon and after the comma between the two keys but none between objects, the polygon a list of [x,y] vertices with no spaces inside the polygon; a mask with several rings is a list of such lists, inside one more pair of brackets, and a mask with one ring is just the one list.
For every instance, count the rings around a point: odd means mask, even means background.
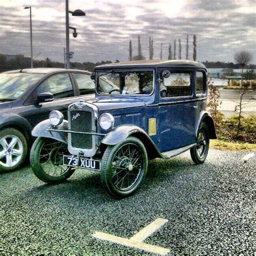
[{"label": "front door of the dark modern car, window included, wing mirror excluded", "polygon": [[[59,110],[64,114],[64,118],[67,119],[68,106],[78,100],[69,72],[57,73],[46,78],[32,92],[31,97],[36,99],[37,95],[42,92],[51,92],[55,99],[52,102],[40,103],[37,100],[33,100],[31,104],[24,108],[21,116],[26,118],[32,127],[42,120],[48,119],[49,113],[52,110]],[[28,102],[31,102],[31,100],[28,100]]]}]

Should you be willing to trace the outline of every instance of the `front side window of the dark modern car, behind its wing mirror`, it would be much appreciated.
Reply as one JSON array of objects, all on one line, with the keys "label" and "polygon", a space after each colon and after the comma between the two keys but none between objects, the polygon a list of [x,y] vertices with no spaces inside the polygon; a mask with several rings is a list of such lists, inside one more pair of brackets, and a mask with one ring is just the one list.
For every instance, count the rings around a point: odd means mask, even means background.
[{"label": "front side window of the dark modern car, behind its wing mirror", "polygon": [[54,75],[37,87],[37,94],[51,92],[56,99],[74,96],[73,87],[68,73]]}]

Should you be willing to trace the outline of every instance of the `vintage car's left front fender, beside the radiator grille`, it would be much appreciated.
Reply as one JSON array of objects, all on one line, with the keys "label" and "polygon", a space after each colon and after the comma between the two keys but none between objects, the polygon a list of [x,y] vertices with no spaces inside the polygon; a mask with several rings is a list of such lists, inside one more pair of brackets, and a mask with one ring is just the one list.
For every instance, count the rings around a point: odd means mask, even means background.
[{"label": "vintage car's left front fender, beside the radiator grille", "polygon": [[68,130],[67,120],[63,120],[62,124],[54,126],[50,123],[49,119],[46,119],[35,126],[35,128],[32,130],[32,136],[55,139],[55,140],[58,140],[59,142],[68,144],[68,133],[53,132],[53,131],[48,131],[48,129]]}]

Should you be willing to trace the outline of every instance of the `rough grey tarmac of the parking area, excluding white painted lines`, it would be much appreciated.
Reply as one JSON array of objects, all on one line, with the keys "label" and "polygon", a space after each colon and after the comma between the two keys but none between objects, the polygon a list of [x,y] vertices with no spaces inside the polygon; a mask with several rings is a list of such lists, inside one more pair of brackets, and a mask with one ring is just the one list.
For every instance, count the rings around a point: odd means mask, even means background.
[{"label": "rough grey tarmac of the parking area, excluding white painted lines", "polygon": [[138,192],[116,200],[99,173],[78,170],[45,185],[30,167],[0,174],[0,254],[147,255],[99,241],[102,231],[129,238],[158,217],[168,219],[145,242],[177,254],[243,254],[255,248],[255,159],[249,151],[211,149],[203,165],[189,153],[149,174]]}]

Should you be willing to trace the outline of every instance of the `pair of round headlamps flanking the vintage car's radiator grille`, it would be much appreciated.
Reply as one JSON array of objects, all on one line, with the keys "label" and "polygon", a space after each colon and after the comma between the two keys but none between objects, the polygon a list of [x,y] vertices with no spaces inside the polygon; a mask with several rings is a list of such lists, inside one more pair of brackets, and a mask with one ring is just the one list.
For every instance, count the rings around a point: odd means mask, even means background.
[{"label": "pair of round headlamps flanking the vintage car's radiator grille", "polygon": [[[63,113],[53,110],[49,114],[50,123],[52,125],[60,125],[63,122]],[[109,130],[114,126],[114,117],[110,113],[103,113],[99,118],[99,125],[104,130]]]}]

